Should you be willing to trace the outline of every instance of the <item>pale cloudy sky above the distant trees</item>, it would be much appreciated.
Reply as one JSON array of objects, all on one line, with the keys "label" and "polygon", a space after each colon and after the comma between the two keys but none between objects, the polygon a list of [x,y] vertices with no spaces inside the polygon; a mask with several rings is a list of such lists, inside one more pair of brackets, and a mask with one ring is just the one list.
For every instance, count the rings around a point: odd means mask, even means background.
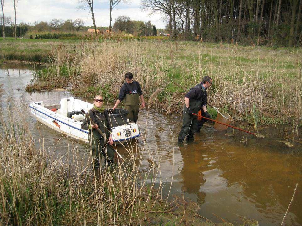
[{"label": "pale cloudy sky above the distant trees", "polygon": [[[151,20],[156,28],[164,28],[164,18],[161,14],[149,15],[140,8],[140,0],[128,0],[128,4],[117,5],[113,10],[113,23],[121,15],[129,16],[133,20]],[[13,0],[4,1],[4,15],[14,18]],[[78,0],[19,0],[17,5],[17,23],[50,21],[53,18],[63,20],[81,18],[86,26],[92,25],[91,14],[77,9]],[[109,0],[94,0],[94,14],[96,26],[109,26]]]}]

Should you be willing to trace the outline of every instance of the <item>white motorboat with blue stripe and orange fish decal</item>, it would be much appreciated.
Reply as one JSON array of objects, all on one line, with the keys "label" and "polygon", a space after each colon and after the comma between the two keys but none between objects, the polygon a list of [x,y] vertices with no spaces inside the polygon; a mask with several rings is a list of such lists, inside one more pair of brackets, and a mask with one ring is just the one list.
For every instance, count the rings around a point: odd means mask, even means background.
[{"label": "white motorboat with blue stripe and orange fish decal", "polygon": [[[44,106],[43,101],[36,101],[31,102],[29,107],[31,113],[42,124],[72,138],[88,142],[88,130],[81,129],[81,124],[85,120],[85,115],[81,110],[87,113],[93,104],[69,97],[61,99],[59,104]],[[137,124],[127,119],[126,110],[115,109],[114,111],[109,111],[109,120],[112,125],[112,139],[116,144],[140,136]]]}]

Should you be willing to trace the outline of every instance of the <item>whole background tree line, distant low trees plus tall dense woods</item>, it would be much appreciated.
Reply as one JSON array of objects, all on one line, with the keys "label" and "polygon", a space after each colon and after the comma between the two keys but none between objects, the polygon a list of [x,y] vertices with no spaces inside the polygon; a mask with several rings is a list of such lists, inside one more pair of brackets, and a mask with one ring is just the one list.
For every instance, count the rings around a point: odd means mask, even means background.
[{"label": "whole background tree line, distant low trees plus tall dense woods", "polygon": [[[119,16],[113,32],[134,36],[169,36],[171,40],[195,40],[238,43],[239,45],[301,46],[302,1],[299,0],[142,0],[141,7],[161,13],[165,29],[156,29],[150,21],[134,21]],[[95,24],[94,18],[93,23]],[[10,17],[3,19],[7,37],[26,32],[87,32],[102,33],[111,27],[84,26],[81,19],[52,19],[32,24],[21,22],[17,27]],[[2,21],[1,21],[2,24]],[[110,25],[111,26],[111,25]]]}]

